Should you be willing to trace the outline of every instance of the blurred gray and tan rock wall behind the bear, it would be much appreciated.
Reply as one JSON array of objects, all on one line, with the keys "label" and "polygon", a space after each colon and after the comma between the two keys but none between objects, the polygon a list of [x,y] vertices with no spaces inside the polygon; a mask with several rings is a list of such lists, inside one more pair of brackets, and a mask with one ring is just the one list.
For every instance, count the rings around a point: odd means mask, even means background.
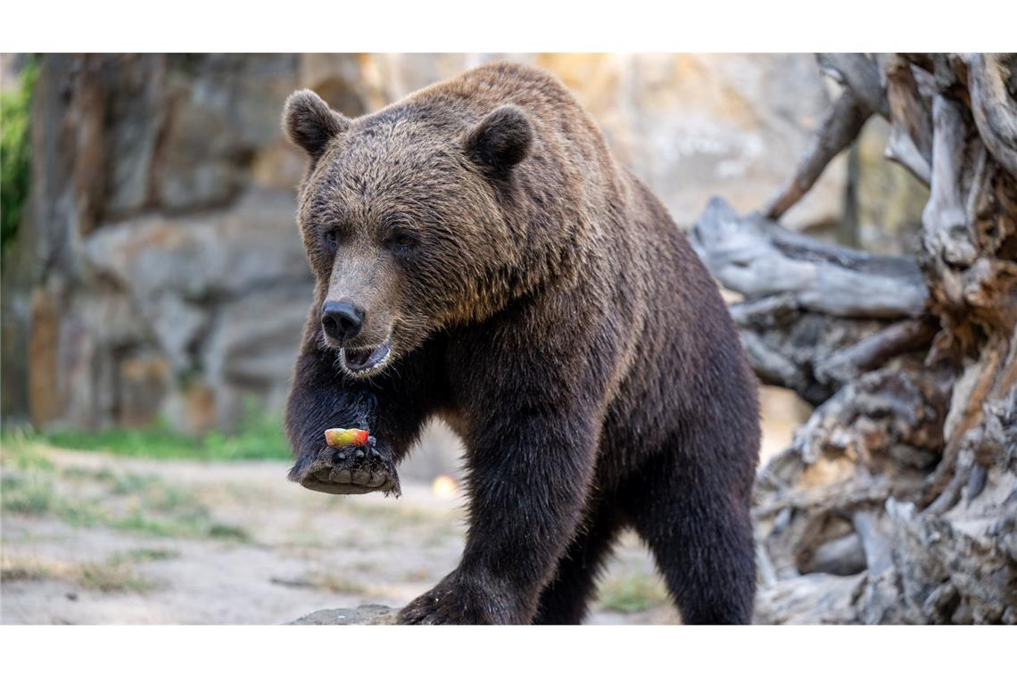
[{"label": "blurred gray and tan rock wall behind the bear", "polygon": [[[201,431],[278,412],[311,290],[286,96],[355,116],[495,58],[561,77],[682,226],[712,194],[765,202],[829,101],[807,55],[48,55],[3,262],[5,418]],[[785,223],[838,222],[846,165]]]}]

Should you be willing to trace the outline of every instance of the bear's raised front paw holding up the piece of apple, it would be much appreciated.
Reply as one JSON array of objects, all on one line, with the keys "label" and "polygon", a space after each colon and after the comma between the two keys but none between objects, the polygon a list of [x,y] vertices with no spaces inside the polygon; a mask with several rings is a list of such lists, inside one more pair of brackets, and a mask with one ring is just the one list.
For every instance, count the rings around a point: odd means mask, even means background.
[{"label": "bear's raised front paw holding up the piece of apple", "polygon": [[371,442],[362,447],[322,446],[304,454],[290,470],[289,479],[308,490],[328,494],[384,492],[399,496],[399,474],[392,455]]}]

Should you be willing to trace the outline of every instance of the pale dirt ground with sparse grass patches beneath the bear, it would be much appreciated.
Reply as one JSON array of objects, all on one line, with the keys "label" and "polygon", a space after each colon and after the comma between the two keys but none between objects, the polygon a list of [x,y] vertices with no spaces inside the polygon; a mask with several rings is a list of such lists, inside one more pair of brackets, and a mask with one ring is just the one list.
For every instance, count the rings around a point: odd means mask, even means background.
[{"label": "pale dirt ground with sparse grass patches beneath the bear", "polygon": [[[458,562],[462,497],[335,497],[285,463],[126,459],[4,450],[6,624],[278,624],[316,610],[399,607]],[[626,535],[588,623],[674,623]]]}]

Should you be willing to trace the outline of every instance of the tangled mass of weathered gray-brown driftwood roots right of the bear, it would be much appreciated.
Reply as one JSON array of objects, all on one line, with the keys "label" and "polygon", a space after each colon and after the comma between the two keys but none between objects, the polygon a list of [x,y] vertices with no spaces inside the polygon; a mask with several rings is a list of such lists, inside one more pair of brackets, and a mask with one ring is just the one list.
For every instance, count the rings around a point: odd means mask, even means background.
[{"label": "tangled mass of weathered gray-brown driftwood roots right of the bear", "polygon": [[817,406],[755,493],[763,622],[1017,623],[1017,59],[820,55],[844,87],[779,218],[873,114],[930,185],[913,259],[713,200],[757,374]]}]

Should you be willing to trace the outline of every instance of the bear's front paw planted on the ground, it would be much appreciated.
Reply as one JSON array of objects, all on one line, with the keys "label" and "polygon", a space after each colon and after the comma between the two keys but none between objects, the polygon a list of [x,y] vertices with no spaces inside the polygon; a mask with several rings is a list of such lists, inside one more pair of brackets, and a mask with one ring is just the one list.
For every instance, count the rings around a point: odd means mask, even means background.
[{"label": "bear's front paw planted on the ground", "polygon": [[[492,582],[487,582],[492,583]],[[399,613],[401,624],[520,624],[515,597],[482,577],[453,572]]]}]

